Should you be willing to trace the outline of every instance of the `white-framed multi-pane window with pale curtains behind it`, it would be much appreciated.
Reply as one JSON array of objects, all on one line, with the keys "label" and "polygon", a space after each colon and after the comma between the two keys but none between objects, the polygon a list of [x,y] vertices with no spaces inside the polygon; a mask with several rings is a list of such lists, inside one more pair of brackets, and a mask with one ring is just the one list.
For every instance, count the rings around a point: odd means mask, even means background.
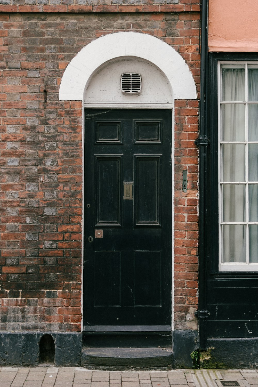
[{"label": "white-framed multi-pane window with pale curtains behind it", "polygon": [[258,65],[220,69],[220,269],[251,271],[258,264]]}]

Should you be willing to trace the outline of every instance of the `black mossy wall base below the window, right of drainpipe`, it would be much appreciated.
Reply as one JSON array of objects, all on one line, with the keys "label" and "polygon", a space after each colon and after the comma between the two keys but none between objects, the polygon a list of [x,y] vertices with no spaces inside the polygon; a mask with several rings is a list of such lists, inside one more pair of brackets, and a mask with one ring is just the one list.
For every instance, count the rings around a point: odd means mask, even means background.
[{"label": "black mossy wall base below the window, right of drainpipe", "polygon": [[208,339],[207,351],[200,352],[201,368],[258,368],[258,337]]}]

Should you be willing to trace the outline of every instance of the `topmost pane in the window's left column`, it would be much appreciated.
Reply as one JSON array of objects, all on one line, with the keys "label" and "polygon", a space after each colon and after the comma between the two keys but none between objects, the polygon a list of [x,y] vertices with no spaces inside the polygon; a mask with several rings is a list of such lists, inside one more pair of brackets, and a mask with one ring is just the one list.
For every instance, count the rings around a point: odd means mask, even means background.
[{"label": "topmost pane in the window's left column", "polygon": [[244,101],[244,68],[222,68],[222,101]]}]

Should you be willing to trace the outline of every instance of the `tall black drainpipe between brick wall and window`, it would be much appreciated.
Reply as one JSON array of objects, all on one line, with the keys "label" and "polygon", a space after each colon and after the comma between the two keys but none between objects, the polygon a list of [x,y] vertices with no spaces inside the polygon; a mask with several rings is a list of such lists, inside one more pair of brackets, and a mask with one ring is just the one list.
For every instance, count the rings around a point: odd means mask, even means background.
[{"label": "tall black drainpipe between brick wall and window", "polygon": [[201,77],[199,137],[195,144],[199,147],[199,303],[196,315],[199,319],[200,349],[207,349],[207,137],[208,125],[208,0],[201,4]]}]

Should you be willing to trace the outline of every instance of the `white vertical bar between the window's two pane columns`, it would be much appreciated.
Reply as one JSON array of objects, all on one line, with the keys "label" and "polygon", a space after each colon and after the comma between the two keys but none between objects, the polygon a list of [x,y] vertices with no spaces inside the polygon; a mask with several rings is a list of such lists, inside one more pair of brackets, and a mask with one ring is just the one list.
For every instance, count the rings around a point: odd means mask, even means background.
[{"label": "white vertical bar between the window's two pane columns", "polygon": [[246,140],[246,263],[249,264],[249,195],[248,195],[248,66],[244,65],[245,140]]}]

